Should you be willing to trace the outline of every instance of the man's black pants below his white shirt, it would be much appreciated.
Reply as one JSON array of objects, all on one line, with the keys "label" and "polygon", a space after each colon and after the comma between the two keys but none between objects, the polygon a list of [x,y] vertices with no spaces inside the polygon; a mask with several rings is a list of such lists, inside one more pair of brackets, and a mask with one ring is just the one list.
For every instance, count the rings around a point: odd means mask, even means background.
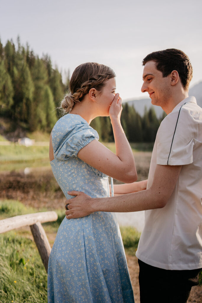
[{"label": "man's black pants below his white shirt", "polygon": [[141,303],[185,303],[200,269],[166,270],[138,260]]}]

